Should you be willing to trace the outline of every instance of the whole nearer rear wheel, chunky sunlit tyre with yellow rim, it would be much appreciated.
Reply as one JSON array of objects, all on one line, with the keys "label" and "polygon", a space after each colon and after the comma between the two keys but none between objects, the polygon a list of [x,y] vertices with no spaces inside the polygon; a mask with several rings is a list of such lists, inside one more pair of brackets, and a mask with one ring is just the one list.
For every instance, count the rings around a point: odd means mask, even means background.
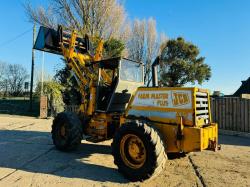
[{"label": "whole nearer rear wheel, chunky sunlit tyre with yellow rim", "polygon": [[131,181],[157,176],[167,160],[162,138],[143,122],[128,122],[117,130],[112,154],[119,172]]}]

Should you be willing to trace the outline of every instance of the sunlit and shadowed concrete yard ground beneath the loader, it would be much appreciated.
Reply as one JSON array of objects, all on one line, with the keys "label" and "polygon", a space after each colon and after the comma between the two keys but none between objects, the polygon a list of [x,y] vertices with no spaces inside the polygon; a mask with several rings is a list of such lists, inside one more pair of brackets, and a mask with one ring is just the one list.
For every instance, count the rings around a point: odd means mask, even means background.
[{"label": "sunlit and shadowed concrete yard ground beneath the loader", "polygon": [[158,177],[131,183],[113,164],[111,141],[59,152],[51,123],[0,116],[0,186],[250,186],[250,138],[220,135],[221,151],[170,159]]}]

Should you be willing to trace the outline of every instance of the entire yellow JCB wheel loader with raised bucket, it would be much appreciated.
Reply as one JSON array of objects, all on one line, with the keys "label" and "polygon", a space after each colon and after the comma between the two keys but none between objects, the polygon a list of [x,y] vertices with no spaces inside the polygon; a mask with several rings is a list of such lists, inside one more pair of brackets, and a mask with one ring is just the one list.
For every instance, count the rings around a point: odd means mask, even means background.
[{"label": "entire yellow JCB wheel loader with raised bucket", "polygon": [[62,26],[41,26],[34,45],[64,57],[82,95],[77,114],[59,113],[53,121],[56,148],[76,148],[83,134],[91,142],[113,139],[114,163],[131,181],[160,173],[166,153],[217,148],[208,90],[159,87],[159,58],[152,65],[153,86],[143,87],[143,64],[121,57],[102,60],[102,40],[94,55],[89,46],[87,35]]}]

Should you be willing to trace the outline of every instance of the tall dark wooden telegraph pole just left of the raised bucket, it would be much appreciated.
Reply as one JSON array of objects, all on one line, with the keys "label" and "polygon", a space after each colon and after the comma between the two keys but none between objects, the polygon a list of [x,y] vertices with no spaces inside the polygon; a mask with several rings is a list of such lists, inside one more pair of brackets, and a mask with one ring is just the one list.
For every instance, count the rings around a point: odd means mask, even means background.
[{"label": "tall dark wooden telegraph pole just left of the raised bucket", "polygon": [[33,45],[32,45],[32,61],[31,61],[31,78],[30,78],[30,111],[32,111],[33,105],[33,78],[34,78],[34,62],[35,62],[35,50],[33,49],[35,45],[36,37],[36,25],[33,26]]}]

